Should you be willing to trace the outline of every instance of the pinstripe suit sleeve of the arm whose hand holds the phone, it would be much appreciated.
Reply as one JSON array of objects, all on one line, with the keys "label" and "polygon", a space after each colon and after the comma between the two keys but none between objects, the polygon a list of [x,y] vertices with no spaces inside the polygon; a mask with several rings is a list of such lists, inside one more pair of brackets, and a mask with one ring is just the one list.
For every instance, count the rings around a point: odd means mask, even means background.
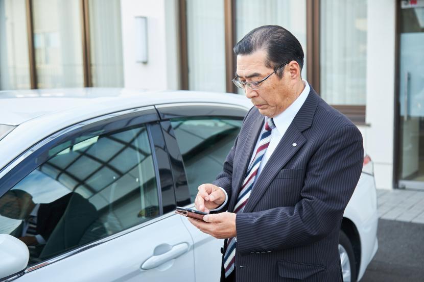
[{"label": "pinstripe suit sleeve of the arm whose hand holds the phone", "polygon": [[362,135],[355,125],[337,130],[314,153],[294,207],[239,213],[238,251],[272,251],[310,244],[338,228],[359,181]]}]

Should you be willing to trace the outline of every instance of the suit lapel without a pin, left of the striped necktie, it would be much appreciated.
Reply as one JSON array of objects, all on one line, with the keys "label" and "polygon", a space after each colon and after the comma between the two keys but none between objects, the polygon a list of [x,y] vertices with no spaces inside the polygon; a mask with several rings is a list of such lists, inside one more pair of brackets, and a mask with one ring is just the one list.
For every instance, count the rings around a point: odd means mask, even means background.
[{"label": "suit lapel without a pin, left of the striped necktie", "polygon": [[[262,125],[264,124],[264,116],[258,116],[258,118],[251,124],[250,130],[246,137],[242,137],[239,140],[238,146],[243,148],[243,152],[239,153],[237,157],[234,159],[234,169],[233,169],[233,183],[232,185],[232,195],[239,195],[239,189],[242,186],[242,182],[244,180],[247,166],[250,162],[250,158],[253,154],[253,149],[256,145],[257,138],[262,130]],[[236,197],[231,197],[228,211],[232,211],[235,206]]]}]

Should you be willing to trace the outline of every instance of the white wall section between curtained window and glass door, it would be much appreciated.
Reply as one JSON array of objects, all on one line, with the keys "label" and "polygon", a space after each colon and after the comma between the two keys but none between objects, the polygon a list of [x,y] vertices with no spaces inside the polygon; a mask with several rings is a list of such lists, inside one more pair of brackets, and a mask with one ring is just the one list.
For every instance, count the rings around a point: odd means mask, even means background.
[{"label": "white wall section between curtained window and glass door", "polygon": [[364,146],[374,162],[377,188],[393,184],[395,0],[368,1],[366,123]]}]

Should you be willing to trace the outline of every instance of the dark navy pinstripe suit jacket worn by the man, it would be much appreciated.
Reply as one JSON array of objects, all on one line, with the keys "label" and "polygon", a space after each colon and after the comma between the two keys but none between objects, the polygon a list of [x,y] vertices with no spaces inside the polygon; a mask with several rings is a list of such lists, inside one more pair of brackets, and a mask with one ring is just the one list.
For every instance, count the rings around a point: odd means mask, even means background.
[{"label": "dark navy pinstripe suit jacket worn by the man", "polygon": [[[214,182],[229,212],[263,124],[252,108]],[[311,87],[237,214],[237,281],[342,281],[339,230],[362,163],[358,128]]]}]

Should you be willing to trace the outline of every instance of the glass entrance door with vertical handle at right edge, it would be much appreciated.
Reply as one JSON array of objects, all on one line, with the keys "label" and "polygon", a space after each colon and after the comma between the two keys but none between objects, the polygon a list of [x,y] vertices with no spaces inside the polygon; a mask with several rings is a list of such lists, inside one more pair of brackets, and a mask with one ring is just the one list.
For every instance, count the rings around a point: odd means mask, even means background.
[{"label": "glass entrance door with vertical handle at right edge", "polygon": [[401,1],[399,187],[424,190],[424,0]]}]

